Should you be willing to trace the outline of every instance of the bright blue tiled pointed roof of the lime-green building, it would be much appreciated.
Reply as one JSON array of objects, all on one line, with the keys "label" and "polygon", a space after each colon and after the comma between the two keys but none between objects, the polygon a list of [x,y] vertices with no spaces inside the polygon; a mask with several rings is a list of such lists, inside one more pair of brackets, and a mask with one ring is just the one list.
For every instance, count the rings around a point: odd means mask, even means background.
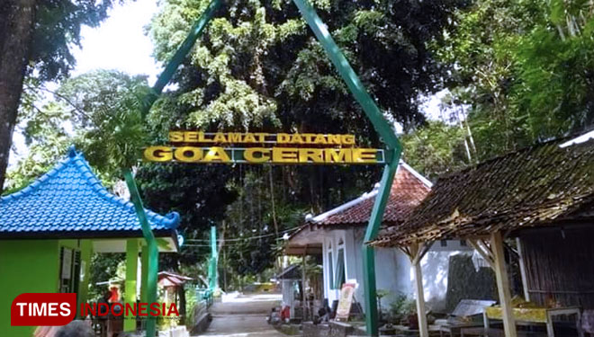
[{"label": "bright blue tiled pointed roof of the lime-green building", "polygon": [[[145,209],[157,233],[175,233],[179,214]],[[0,198],[0,236],[141,237],[131,202],[107,191],[74,146],[67,157],[21,191]]]}]

